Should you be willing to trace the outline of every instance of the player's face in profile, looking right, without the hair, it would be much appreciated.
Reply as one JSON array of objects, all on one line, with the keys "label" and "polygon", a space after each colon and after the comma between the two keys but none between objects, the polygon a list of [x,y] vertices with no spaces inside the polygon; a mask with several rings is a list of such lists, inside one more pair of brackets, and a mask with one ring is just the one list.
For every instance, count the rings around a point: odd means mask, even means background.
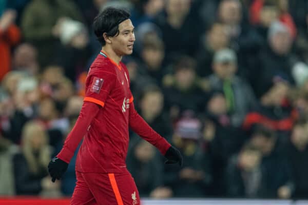
[{"label": "player's face in profile, looking right, without the hair", "polygon": [[111,38],[111,46],[119,56],[132,53],[134,37],[134,27],[130,19],[119,24],[119,35]]}]

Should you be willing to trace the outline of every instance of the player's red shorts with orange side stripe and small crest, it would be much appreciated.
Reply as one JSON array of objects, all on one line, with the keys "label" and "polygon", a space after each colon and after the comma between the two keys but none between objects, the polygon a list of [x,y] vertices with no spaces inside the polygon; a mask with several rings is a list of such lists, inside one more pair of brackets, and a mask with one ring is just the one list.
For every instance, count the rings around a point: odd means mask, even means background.
[{"label": "player's red shorts with orange side stripe and small crest", "polygon": [[76,178],[71,205],[140,205],[139,193],[129,172],[76,172]]}]

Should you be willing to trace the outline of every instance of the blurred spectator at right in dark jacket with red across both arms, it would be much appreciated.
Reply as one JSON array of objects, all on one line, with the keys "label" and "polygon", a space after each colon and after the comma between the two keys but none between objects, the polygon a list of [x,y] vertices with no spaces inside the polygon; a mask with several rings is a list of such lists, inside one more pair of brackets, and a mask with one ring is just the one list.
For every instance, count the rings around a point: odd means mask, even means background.
[{"label": "blurred spectator at right in dark jacket with red across both arms", "polygon": [[298,114],[288,100],[290,83],[285,76],[273,77],[271,83],[263,83],[267,89],[259,105],[249,112],[243,122],[246,131],[263,125],[277,131],[277,137],[285,145]]}]

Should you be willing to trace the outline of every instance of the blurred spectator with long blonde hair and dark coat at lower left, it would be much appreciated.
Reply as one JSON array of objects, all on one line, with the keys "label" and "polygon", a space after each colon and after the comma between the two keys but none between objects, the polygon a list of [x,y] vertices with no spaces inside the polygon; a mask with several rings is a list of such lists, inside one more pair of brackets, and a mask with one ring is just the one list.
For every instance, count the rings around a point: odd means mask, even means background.
[{"label": "blurred spectator with long blonde hair and dark coat at lower left", "polygon": [[22,141],[22,152],[13,158],[16,194],[60,196],[60,183],[52,183],[48,176],[51,153],[44,127],[29,121]]}]

